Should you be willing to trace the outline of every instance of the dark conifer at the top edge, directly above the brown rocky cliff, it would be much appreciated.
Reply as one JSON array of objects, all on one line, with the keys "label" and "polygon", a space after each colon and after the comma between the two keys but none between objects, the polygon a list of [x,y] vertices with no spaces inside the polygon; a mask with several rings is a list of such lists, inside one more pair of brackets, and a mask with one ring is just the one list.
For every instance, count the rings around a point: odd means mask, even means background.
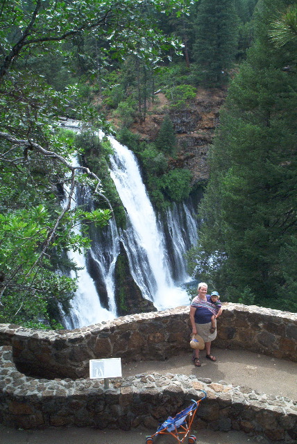
[{"label": "dark conifer at the top edge, directly above the brown rocky cliff", "polygon": [[238,17],[233,0],[198,3],[194,58],[199,76],[208,86],[226,82],[237,48]]}]

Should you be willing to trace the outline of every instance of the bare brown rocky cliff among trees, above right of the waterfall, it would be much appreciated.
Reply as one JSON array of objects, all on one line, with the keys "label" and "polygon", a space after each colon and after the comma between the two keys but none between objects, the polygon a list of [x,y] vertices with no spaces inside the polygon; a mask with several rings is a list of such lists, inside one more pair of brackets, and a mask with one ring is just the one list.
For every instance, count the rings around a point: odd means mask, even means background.
[{"label": "bare brown rocky cliff among trees, above right of the waterfall", "polygon": [[169,114],[178,141],[177,158],[171,164],[192,171],[193,184],[209,176],[207,153],[212,144],[214,129],[219,124],[219,110],[226,97],[221,89],[197,89],[196,98],[183,110],[173,110],[162,94],[148,106],[146,120],[133,125],[134,133],[153,141],[158,135],[165,114]]}]

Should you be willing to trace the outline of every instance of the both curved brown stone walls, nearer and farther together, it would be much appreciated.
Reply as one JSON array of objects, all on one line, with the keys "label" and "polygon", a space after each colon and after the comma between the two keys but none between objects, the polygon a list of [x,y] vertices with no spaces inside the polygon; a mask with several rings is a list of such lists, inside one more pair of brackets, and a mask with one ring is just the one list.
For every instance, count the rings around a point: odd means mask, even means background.
[{"label": "both curved brown stone walls, nearer and farther together", "polygon": [[[285,397],[194,375],[114,378],[108,388],[103,379],[88,377],[90,359],[128,362],[178,355],[189,349],[190,331],[189,307],[72,331],[0,325],[0,422],[26,429],[72,425],[127,430],[140,424],[156,429],[191,400],[201,399],[203,390],[207,398],[199,404],[194,429],[243,430],[273,443],[296,443],[297,401]],[[296,314],[225,304],[215,345],[297,361],[296,339]]]}]

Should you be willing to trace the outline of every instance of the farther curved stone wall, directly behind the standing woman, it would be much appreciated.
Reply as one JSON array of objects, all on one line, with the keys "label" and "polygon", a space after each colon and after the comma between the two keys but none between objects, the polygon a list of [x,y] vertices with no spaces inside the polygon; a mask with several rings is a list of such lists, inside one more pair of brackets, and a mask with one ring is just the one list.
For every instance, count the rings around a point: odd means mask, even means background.
[{"label": "farther curved stone wall, directly behind the standing woman", "polygon": [[[76,330],[46,332],[0,324],[22,373],[54,379],[89,375],[90,359],[164,360],[189,349],[189,307],[135,314]],[[296,314],[226,303],[218,319],[219,348],[241,348],[297,361]]]}]

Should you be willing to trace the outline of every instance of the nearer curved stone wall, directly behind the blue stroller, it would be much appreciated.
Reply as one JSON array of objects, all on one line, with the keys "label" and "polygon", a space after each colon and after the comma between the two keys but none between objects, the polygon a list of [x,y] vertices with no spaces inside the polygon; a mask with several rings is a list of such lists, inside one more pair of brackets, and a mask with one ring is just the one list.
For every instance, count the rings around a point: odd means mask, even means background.
[{"label": "nearer curved stone wall, directly behind the blue stroller", "polygon": [[11,347],[0,348],[0,422],[23,429],[76,426],[157,429],[160,422],[199,404],[192,432],[242,430],[278,443],[297,439],[297,402],[194,375],[136,375],[110,379],[34,379],[19,373]]}]

